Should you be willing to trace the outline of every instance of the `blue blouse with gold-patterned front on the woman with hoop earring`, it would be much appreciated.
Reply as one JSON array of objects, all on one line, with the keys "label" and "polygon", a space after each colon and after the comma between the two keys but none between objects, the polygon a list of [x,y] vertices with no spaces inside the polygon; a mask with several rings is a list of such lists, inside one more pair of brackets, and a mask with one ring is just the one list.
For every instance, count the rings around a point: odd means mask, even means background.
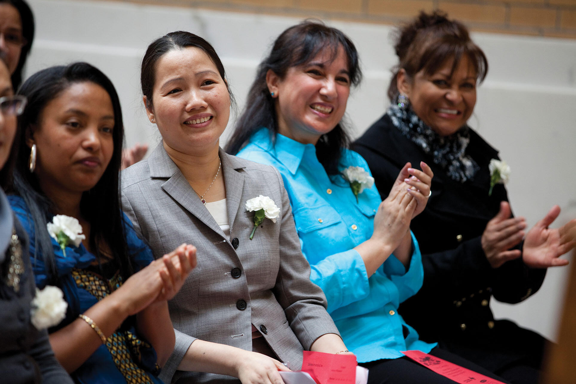
[{"label": "blue blouse with gold-patterned front on the woman with hoop earring", "polygon": [[[29,254],[32,269],[36,277],[36,287],[42,289],[48,284],[48,276],[44,268],[44,261],[40,250],[35,248],[35,226],[32,216],[20,196],[8,196],[12,210],[20,219],[22,227],[30,237]],[[151,250],[142,242],[132,227],[130,219],[124,215],[124,231],[134,269],[146,267],[153,260]],[[52,249],[56,258],[58,269],[59,288],[64,293],[68,303],[66,318],[49,329],[54,332],[70,324],[84,313],[98,300],[116,290],[122,284],[122,277],[118,271],[108,271],[107,277],[98,272],[97,267],[90,264],[96,256],[88,252],[84,245],[78,248],[66,247],[66,257],[55,239],[52,239]],[[106,264],[103,264],[105,270]],[[108,268],[109,269],[109,268]],[[107,273],[103,273],[107,274]],[[146,340],[138,335],[135,329],[135,317],[128,317],[126,321],[107,339],[107,343],[100,345],[92,356],[81,367],[75,370],[71,377],[77,383],[162,383],[157,375],[160,367],[156,364],[156,351]]]}]

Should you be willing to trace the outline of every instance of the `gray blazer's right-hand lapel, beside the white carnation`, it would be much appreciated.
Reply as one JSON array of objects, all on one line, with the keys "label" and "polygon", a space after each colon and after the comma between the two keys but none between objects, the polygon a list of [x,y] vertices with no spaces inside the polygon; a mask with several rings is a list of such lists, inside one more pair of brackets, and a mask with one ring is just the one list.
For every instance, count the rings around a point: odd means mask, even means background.
[{"label": "gray blazer's right-hand lapel, beside the white carnation", "polygon": [[[226,205],[228,206],[228,222],[230,223],[230,233],[234,226],[234,219],[238,215],[240,204],[244,207],[246,201],[242,201],[242,191],[244,189],[244,173],[238,172],[243,169],[242,165],[235,156],[225,153],[222,149],[219,151],[222,170],[224,172],[224,185],[226,187]],[[256,196],[252,196],[256,197]]]}]

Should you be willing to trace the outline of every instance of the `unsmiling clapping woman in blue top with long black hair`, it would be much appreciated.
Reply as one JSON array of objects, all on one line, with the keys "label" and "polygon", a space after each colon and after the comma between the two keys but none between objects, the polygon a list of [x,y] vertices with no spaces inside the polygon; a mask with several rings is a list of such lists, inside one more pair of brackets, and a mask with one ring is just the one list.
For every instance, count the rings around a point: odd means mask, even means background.
[{"label": "unsmiling clapping woman in blue top with long black hair", "polygon": [[[28,105],[9,199],[30,238],[36,286],[58,286],[68,303],[48,330],[56,358],[79,383],[160,383],[175,343],[166,300],[194,267],[195,249],[153,261],[123,215],[122,112],[103,73],[86,63],[51,67],[20,93]],[[47,230],[56,214],[77,219],[85,239],[60,248]]]}]

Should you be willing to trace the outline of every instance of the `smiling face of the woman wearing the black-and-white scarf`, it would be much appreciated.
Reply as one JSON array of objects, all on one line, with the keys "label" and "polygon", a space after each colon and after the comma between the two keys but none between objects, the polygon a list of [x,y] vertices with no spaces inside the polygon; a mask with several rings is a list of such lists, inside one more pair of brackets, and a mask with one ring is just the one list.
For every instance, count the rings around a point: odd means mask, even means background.
[{"label": "smiling face of the woman wearing the black-and-white scarf", "polygon": [[428,75],[419,71],[409,79],[404,70],[398,74],[398,89],[408,96],[412,109],[434,132],[449,136],[458,131],[474,111],[476,72],[468,56],[462,56],[452,72],[453,60]]}]

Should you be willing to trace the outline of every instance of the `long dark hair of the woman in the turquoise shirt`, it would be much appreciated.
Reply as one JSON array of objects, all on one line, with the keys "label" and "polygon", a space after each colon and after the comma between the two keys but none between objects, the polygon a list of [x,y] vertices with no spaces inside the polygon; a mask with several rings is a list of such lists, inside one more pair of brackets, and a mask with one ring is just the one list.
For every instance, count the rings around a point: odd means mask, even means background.
[{"label": "long dark hair of the woman in the turquoise shirt", "polygon": [[[348,59],[348,73],[352,85],[358,85],[362,78],[358,51],[348,36],[342,31],[324,25],[317,20],[305,20],[282,32],[274,41],[270,55],[260,63],[256,78],[252,83],[246,107],[236,122],[226,151],[236,154],[248,142],[250,136],[262,127],[268,128],[274,139],[278,132],[275,100],[268,92],[266,73],[274,71],[280,78],[285,77],[290,67],[300,66],[312,60],[320,51],[332,50],[332,60],[342,46]],[[348,146],[350,139],[340,121],[336,127],[320,137],[316,143],[316,156],[328,174],[338,173],[340,153]]]}]

